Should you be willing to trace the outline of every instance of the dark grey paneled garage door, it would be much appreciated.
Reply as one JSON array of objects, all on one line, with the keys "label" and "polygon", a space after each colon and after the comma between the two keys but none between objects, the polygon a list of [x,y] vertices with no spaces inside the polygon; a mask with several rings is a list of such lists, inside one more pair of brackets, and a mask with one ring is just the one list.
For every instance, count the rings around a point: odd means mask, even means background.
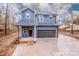
[{"label": "dark grey paneled garage door", "polygon": [[46,37],[55,37],[55,30],[38,30],[37,37],[38,38],[46,38]]}]

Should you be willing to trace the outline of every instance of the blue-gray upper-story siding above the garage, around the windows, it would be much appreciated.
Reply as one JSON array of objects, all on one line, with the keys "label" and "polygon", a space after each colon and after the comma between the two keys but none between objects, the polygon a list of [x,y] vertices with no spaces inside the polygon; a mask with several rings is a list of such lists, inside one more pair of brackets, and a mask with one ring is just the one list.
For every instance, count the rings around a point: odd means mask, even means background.
[{"label": "blue-gray upper-story siding above the garage, around the windows", "polygon": [[[40,16],[40,15],[38,15],[38,16]],[[50,19],[50,17],[49,17],[50,15],[42,15],[43,21],[39,21],[39,18],[37,19],[38,16],[36,16],[36,20],[38,22],[38,25],[54,25],[54,24],[57,24],[56,18],[53,15],[51,15],[52,19]]]}]

